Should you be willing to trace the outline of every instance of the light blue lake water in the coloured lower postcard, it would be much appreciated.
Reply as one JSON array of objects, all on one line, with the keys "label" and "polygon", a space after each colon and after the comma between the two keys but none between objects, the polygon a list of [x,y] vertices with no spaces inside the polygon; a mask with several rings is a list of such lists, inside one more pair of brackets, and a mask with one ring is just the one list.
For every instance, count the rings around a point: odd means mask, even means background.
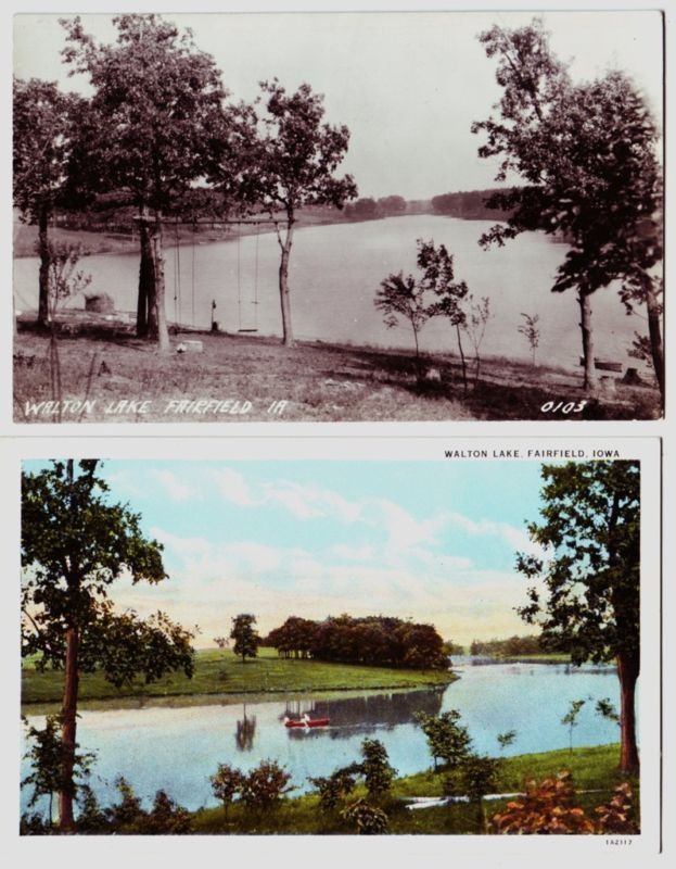
[{"label": "light blue lake water in the coloured lower postcard", "polygon": [[[298,789],[295,793],[299,793],[309,790],[309,776],[326,776],[358,760],[367,736],[384,743],[400,774],[430,768],[425,736],[413,721],[419,710],[435,715],[458,709],[481,753],[497,755],[497,734],[516,730],[516,739],[505,754],[523,754],[567,747],[569,731],[561,718],[570,701],[583,698],[587,703],[574,731],[574,745],[618,740],[617,726],[594,711],[601,697],[610,697],[618,708],[613,668],[468,664],[455,669],[458,681],[422,691],[339,694],[334,700],[307,697],[245,706],[82,711],[77,739],[81,751],[98,752],[91,783],[103,804],[115,801],[113,782],[122,774],[145,805],[163,788],[190,809],[215,805],[208,777],[219,763],[250,770],[264,758],[275,758],[292,773]],[[331,726],[284,728],[284,715],[304,711],[311,717],[328,716]],[[24,805],[27,798],[24,793]]]}]

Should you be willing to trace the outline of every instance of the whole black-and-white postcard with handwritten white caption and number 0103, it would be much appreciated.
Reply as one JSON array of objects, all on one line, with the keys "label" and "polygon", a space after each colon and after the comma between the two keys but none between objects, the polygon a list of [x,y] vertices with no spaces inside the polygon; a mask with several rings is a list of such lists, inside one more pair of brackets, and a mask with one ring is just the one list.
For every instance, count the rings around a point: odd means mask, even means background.
[{"label": "whole black-and-white postcard with handwritten white caption and number 0103", "polygon": [[659,10],[13,27],[15,423],[662,416]]}]

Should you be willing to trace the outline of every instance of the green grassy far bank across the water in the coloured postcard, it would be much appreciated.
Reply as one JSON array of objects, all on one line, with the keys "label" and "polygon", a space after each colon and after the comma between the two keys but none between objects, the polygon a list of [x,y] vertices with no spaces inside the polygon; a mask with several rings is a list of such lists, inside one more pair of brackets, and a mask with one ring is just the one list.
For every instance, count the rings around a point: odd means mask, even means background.
[{"label": "green grassy far bank across the water in the coloured postcard", "polygon": [[[174,673],[150,685],[137,681],[131,688],[115,689],[100,673],[80,677],[80,706],[119,708],[143,703],[197,705],[205,697],[243,694],[290,692],[350,691],[374,689],[413,689],[447,684],[456,677],[439,670],[399,670],[388,667],[367,667],[348,664],[327,664],[318,660],[278,658],[273,648],[260,648],[258,657],[245,664],[231,651],[203,650],[195,655],[192,679]],[[46,711],[61,702],[63,672],[39,672],[35,664],[24,664],[22,670],[22,703],[30,711]]]}]

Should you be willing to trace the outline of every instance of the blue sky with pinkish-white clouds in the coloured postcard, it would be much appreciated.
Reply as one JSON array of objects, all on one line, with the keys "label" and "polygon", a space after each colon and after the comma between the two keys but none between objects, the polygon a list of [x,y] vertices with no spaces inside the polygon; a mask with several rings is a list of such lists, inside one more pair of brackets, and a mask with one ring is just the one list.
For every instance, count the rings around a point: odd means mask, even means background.
[{"label": "blue sky with pinkish-white clouds in the coloured postcard", "polygon": [[[41,466],[26,463],[27,470]],[[120,608],[162,609],[195,645],[254,613],[267,633],[290,615],[393,615],[444,639],[525,634],[538,462],[105,461],[112,503],[141,514],[169,579],[116,582]]]}]

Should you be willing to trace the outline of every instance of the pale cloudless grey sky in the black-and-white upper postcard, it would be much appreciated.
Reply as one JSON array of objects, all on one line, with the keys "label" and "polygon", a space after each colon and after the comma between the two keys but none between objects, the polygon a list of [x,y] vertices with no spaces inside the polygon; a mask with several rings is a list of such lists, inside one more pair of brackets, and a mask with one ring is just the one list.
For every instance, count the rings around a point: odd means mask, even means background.
[{"label": "pale cloudless grey sky in the black-and-white upper postcard", "polygon": [[[371,12],[173,14],[214,55],[233,99],[251,101],[257,83],[277,76],[293,90],[304,81],[326,98],[327,119],[346,124],[342,164],[362,197],[426,199],[450,190],[493,186],[496,164],[481,160],[473,121],[499,98],[495,61],[476,36],[493,24],[519,27],[532,12]],[[105,14],[82,15],[85,30],[111,42]],[[58,80],[87,92],[61,62],[64,32],[56,14],[14,17],[14,73]],[[571,62],[575,80],[609,68],[629,73],[653,111],[662,105],[659,12],[600,11],[544,14],[551,46]]]}]

